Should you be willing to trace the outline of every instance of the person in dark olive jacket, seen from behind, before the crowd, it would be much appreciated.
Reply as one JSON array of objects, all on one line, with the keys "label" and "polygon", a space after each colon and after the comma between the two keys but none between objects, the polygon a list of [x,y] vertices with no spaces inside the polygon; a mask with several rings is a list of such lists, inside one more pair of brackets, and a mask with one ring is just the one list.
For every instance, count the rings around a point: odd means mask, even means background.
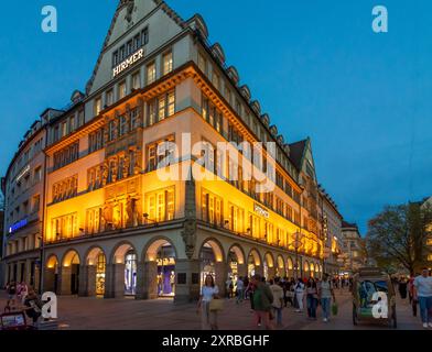
[{"label": "person in dark olive jacket, seen from behind, before the crowd", "polygon": [[271,319],[271,305],[273,302],[273,295],[268,285],[262,283],[261,275],[253,275],[251,283],[253,284],[253,310],[256,326],[261,321],[261,326],[267,330],[274,330]]}]

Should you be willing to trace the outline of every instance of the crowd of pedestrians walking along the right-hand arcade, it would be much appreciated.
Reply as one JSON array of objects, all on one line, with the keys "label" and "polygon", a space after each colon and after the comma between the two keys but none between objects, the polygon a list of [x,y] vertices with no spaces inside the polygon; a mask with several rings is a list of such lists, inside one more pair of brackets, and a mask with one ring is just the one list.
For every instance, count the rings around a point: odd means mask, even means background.
[{"label": "crowd of pedestrians walking along the right-hand arcade", "polygon": [[[225,282],[225,298],[235,299],[236,305],[249,300],[250,311],[253,314],[253,326],[257,329],[273,330],[283,327],[283,310],[293,309],[305,314],[310,320],[317,320],[321,315],[323,322],[328,322],[335,315],[335,288],[349,286],[348,280],[331,278],[325,274],[318,278],[281,278],[266,279],[261,275],[251,277],[228,277]],[[219,288],[214,277],[207,275],[202,288],[198,312],[202,316],[202,328],[218,329],[217,316],[223,309]],[[216,305],[216,302],[218,302]],[[212,308],[215,306],[216,308]]]}]

